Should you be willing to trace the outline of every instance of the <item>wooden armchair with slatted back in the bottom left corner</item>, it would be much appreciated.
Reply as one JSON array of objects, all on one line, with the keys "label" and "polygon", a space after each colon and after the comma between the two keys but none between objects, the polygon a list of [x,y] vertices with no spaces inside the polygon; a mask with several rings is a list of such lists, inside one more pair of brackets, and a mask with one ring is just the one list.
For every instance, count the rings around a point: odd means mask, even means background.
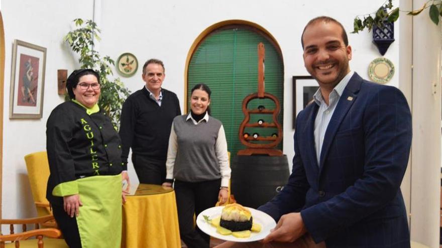
[{"label": "wooden armchair with slatted back in the bottom left corner", "polygon": [[[64,239],[59,239],[61,231],[56,228],[41,228],[54,216],[46,215],[28,219],[0,219],[0,224],[9,224],[10,234],[0,234],[0,248],[68,248]],[[27,225],[35,224],[34,230],[27,230]],[[22,225],[23,232],[15,233],[14,225]],[[36,237],[32,238],[31,237]],[[45,238],[44,238],[45,237]],[[48,238],[46,238],[48,237]]]}]

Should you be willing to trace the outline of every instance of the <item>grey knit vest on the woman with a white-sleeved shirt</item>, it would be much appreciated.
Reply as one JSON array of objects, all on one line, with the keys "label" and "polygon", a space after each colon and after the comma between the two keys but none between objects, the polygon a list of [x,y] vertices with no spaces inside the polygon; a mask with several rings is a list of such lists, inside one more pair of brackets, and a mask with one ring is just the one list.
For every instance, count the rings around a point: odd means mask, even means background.
[{"label": "grey knit vest on the woman with a white-sleeved shirt", "polygon": [[200,182],[221,178],[215,144],[222,123],[213,117],[197,125],[187,115],[173,119],[178,148],[173,177],[179,181]]}]

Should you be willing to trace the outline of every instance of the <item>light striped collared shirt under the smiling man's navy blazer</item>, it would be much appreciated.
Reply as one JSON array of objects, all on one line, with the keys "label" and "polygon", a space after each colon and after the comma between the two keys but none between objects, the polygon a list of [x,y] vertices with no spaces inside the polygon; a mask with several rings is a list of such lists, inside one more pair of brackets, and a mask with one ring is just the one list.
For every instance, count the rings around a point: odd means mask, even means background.
[{"label": "light striped collared shirt under the smiling man's navy blazer", "polygon": [[316,119],[314,120],[314,145],[316,150],[316,159],[318,165],[320,163],[320,154],[322,150],[322,144],[324,143],[325,131],[327,130],[328,123],[332,119],[333,113],[335,112],[336,106],[338,105],[339,99],[344,92],[345,87],[352,78],[354,72],[350,71],[342,80],[339,82],[332,92],[328,95],[328,105],[322,98],[320,88],[314,93],[313,100],[319,106]]}]

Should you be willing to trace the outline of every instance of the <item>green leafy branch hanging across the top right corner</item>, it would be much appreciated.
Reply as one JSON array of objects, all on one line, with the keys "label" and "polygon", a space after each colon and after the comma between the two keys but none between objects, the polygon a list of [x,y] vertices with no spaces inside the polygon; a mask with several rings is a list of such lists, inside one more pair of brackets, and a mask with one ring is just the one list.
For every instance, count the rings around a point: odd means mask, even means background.
[{"label": "green leafy branch hanging across the top right corner", "polygon": [[420,9],[413,11],[401,11],[399,8],[393,9],[391,1],[392,0],[385,1],[376,12],[357,16],[353,21],[352,33],[359,33],[359,31],[363,31],[364,29],[371,31],[374,25],[382,28],[385,22],[394,23],[399,18],[399,12],[407,12],[407,15],[416,16],[427,8],[429,9],[428,14],[431,21],[435,25],[439,24],[439,16],[442,16],[442,3],[439,0],[428,0]]}]

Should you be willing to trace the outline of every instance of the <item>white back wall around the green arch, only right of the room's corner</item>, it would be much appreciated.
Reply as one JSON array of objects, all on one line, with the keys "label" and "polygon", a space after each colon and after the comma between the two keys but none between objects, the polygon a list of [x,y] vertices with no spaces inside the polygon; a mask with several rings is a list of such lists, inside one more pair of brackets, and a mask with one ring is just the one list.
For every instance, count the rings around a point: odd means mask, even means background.
[{"label": "white back wall around the green arch, only right of the room's corner", "polygon": [[[100,52],[117,59],[124,52],[133,53],[140,67],[150,58],[163,60],[166,67],[164,88],[174,91],[184,100],[184,69],[187,53],[203,30],[226,20],[246,20],[269,31],[279,43],[284,60],[284,154],[289,163],[293,157],[292,76],[308,75],[302,61],[300,36],[308,20],[329,15],[340,21],[348,31],[353,47],[351,69],[368,79],[370,62],[380,57],[372,44],[371,32],[350,34],[353,19],[360,14],[374,12],[383,0],[360,1],[350,4],[337,1],[102,1]],[[395,1],[393,1],[395,2]],[[398,2],[396,3],[398,4]],[[397,25],[397,24],[396,24]],[[385,57],[398,70],[398,35]],[[132,91],[140,89],[141,68],[137,75],[123,78]],[[398,86],[396,73],[389,85]],[[131,174],[132,175],[132,174]],[[132,177],[134,178],[134,176]]]}]

